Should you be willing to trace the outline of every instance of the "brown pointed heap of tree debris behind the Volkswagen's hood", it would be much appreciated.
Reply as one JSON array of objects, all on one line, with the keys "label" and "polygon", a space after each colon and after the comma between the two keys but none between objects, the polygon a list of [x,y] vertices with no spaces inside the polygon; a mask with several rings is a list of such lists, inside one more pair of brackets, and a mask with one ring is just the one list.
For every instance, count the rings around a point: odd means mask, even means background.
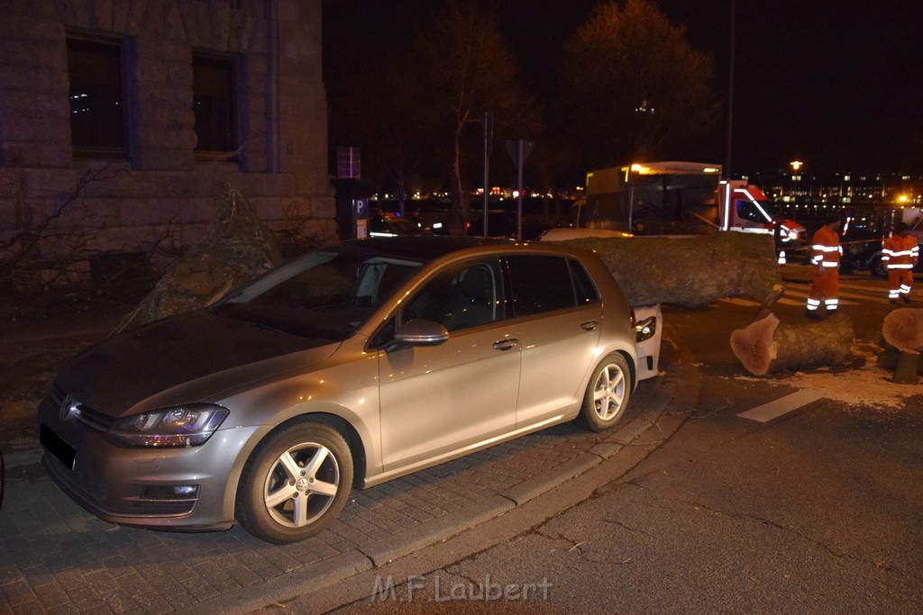
[{"label": "brown pointed heap of tree debris behind the Volkswagen's hood", "polygon": [[167,268],[116,332],[210,305],[281,263],[272,232],[246,198],[227,184],[206,237]]}]

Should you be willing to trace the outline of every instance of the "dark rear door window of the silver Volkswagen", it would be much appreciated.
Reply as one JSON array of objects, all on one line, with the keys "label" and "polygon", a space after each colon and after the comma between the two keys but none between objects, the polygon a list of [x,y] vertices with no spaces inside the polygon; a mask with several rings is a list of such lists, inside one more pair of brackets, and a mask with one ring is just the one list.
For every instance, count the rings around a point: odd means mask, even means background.
[{"label": "dark rear door window of the silver Volkswagen", "polygon": [[559,256],[510,256],[509,278],[517,316],[573,307],[573,282],[567,261]]}]

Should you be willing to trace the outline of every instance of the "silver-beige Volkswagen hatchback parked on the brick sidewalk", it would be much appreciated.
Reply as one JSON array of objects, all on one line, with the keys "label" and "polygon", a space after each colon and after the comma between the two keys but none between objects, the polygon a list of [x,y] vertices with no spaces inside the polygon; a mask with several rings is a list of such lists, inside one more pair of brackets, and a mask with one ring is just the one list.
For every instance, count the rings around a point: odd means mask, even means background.
[{"label": "silver-beige Volkswagen hatchback parked on the brick sidewalk", "polygon": [[42,461],[116,524],[237,521],[290,542],[354,487],[577,418],[612,427],[638,382],[636,337],[590,252],[331,244],[67,364],[39,408]]}]

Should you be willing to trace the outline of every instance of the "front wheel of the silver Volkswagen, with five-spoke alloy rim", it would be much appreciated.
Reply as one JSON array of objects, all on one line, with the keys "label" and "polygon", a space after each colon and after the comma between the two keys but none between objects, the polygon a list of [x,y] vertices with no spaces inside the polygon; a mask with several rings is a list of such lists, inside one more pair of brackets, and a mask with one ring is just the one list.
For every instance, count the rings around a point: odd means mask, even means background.
[{"label": "front wheel of the silver Volkswagen, with five-spoke alloy rim", "polygon": [[299,420],[270,433],[250,455],[237,491],[241,526],[275,544],[326,529],[353,486],[353,455],[330,425]]}]

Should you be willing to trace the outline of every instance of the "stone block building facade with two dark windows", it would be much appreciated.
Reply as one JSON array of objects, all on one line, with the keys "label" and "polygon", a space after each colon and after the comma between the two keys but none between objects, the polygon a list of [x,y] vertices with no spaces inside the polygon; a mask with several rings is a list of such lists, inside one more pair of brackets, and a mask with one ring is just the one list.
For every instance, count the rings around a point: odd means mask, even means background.
[{"label": "stone block building facade with two dark windows", "polygon": [[334,238],[320,0],[3,0],[3,14],[0,237],[188,246],[231,183],[270,227]]}]

